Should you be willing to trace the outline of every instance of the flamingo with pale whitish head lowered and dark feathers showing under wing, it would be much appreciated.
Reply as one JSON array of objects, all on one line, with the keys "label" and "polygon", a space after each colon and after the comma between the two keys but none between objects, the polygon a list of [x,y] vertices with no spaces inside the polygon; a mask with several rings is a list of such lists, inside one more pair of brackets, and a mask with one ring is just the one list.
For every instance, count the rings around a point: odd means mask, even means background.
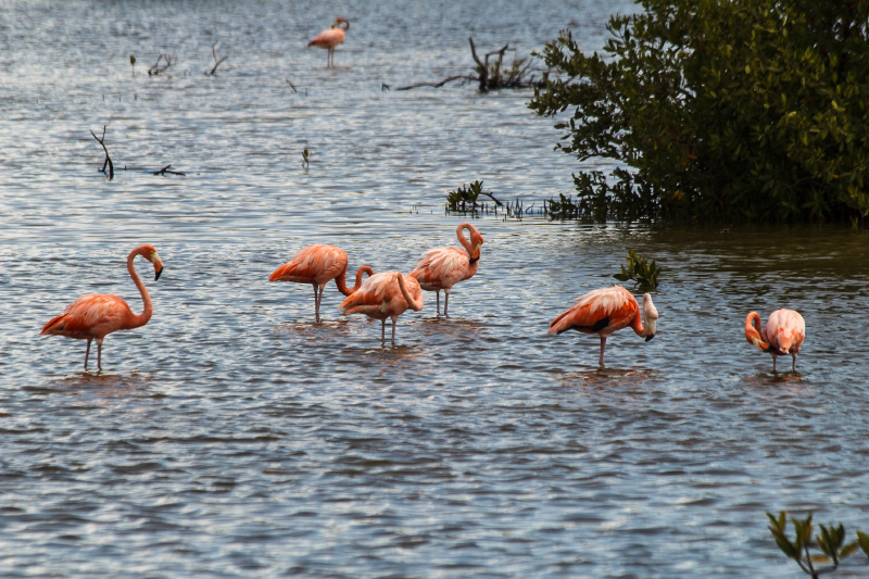
[{"label": "flamingo with pale whitish head lowered and dark feathers showing under wing", "polygon": [[[645,341],[655,337],[658,311],[652,303],[652,295],[643,293],[643,319],[640,319],[640,305],[630,291],[621,286],[602,288],[580,297],[568,311],[550,323],[550,333],[562,333],[569,329],[582,333],[596,333],[601,337],[600,365],[604,365],[606,337],[614,331],[630,326],[637,336]],[[643,325],[645,324],[645,327]]]}]

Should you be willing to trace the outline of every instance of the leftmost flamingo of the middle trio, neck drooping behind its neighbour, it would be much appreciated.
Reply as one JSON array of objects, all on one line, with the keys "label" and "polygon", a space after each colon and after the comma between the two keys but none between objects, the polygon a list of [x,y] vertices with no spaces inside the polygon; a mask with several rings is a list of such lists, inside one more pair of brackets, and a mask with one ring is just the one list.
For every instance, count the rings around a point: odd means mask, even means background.
[{"label": "leftmost flamingo of the middle trio, neck drooping behind its neighbour", "polygon": [[[307,246],[268,276],[269,281],[298,281],[314,286],[314,318],[319,322],[319,304],[323,301],[323,288],[335,279],[338,291],[350,295],[362,285],[362,274],[374,275],[374,270],[363,265],[356,272],[356,282],[347,287],[347,253],[341,248],[317,243]],[[319,291],[317,291],[319,289]]]}]

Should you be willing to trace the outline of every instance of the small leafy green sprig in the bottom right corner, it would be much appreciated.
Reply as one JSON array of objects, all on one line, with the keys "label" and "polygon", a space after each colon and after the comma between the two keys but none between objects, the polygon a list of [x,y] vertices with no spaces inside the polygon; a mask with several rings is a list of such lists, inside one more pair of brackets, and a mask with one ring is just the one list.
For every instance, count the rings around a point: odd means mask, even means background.
[{"label": "small leafy green sprig in the bottom right corner", "polygon": [[[776,517],[771,513],[767,513],[769,517],[769,531],[776,539],[776,544],[779,545],[782,553],[788,555],[799,565],[807,575],[813,579],[817,579],[820,575],[832,572],[839,568],[839,564],[845,557],[853,555],[857,549],[861,549],[866,556],[869,557],[869,536],[857,531],[857,539],[845,544],[845,528],[840,523],[837,527],[830,525],[824,527],[818,525],[821,533],[815,537],[815,542],[811,542],[811,514],[799,520],[791,517],[791,523],[794,526],[794,539],[788,538],[788,518],[784,511],[779,513]],[[820,549],[823,555],[813,555],[809,553],[809,547]],[[815,568],[815,564],[828,565],[824,568]]]}]

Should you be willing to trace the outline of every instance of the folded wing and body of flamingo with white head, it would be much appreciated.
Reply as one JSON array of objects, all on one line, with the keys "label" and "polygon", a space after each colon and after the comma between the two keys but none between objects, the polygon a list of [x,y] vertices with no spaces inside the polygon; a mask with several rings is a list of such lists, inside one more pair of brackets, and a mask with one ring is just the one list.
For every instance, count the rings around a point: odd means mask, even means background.
[{"label": "folded wing and body of flamingo with white head", "polygon": [[608,336],[639,320],[637,299],[621,286],[603,288],[581,295],[577,302],[550,323],[549,333],[575,329],[584,333]]}]

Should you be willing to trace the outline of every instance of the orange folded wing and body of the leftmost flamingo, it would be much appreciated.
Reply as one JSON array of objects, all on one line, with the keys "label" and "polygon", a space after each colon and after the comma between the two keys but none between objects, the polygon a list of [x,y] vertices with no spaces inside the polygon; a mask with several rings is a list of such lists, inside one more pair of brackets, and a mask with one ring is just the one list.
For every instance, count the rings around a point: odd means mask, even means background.
[{"label": "orange folded wing and body of the leftmost flamingo", "polygon": [[66,306],[63,314],[53,317],[40,333],[67,338],[102,338],[122,329],[134,317],[122,298],[108,294],[81,295]]}]

